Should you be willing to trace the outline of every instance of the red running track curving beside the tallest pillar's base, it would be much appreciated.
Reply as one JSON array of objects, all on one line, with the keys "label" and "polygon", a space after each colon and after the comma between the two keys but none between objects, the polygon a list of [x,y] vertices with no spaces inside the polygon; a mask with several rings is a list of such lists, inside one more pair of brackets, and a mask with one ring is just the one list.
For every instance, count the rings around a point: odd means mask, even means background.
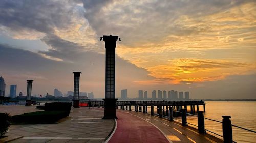
[{"label": "red running track curving beside the tallest pillar's base", "polygon": [[152,124],[131,115],[117,111],[117,129],[109,143],[128,142],[169,142]]}]

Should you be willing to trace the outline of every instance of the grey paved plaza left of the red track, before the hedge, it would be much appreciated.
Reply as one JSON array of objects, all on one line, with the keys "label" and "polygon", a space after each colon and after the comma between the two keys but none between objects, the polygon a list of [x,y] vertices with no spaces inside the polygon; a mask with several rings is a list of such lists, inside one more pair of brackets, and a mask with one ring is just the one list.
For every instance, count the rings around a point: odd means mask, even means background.
[{"label": "grey paved plaza left of the red track, before the hedge", "polygon": [[104,142],[114,128],[114,120],[102,120],[102,108],[71,109],[70,118],[58,124],[11,125],[6,135],[23,138],[23,142]]}]

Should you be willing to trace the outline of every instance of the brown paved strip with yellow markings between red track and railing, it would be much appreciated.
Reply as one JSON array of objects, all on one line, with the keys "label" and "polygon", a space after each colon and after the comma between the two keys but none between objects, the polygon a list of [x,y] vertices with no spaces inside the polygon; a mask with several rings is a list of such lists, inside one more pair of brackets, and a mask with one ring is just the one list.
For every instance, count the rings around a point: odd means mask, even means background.
[{"label": "brown paved strip with yellow markings between red track and railing", "polygon": [[[123,114],[126,114],[126,116],[123,116]],[[223,140],[216,138],[214,136],[211,136],[209,134],[199,134],[197,129],[189,127],[189,126],[181,126],[178,122],[170,122],[167,119],[159,118],[156,116],[151,116],[148,114],[143,114],[141,112],[135,112],[135,111],[127,111],[127,110],[117,110],[117,115],[120,117],[127,117],[127,118],[139,118],[144,120],[145,122],[150,122],[154,124],[156,127],[158,127],[165,135],[168,137],[172,142],[197,142],[197,143],[207,143],[207,142],[223,142]],[[126,120],[126,119],[125,119]],[[135,119],[134,119],[135,120]],[[136,122],[131,121],[129,125],[127,125],[127,128],[132,128],[132,126],[136,125]],[[119,123],[118,123],[119,126]],[[117,127],[118,127],[117,126]],[[143,133],[142,133],[143,134]],[[138,134],[139,135],[139,134]],[[158,137],[158,132],[153,133],[154,137]],[[153,137],[151,137],[153,138]],[[159,140],[159,141],[162,141]],[[156,141],[156,142],[159,142]],[[153,142],[153,141],[149,141]]]}]

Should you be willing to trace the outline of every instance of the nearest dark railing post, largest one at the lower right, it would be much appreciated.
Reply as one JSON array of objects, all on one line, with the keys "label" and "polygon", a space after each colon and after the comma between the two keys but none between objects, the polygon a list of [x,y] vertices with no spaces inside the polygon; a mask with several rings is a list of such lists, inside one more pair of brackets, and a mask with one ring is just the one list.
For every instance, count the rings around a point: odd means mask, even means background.
[{"label": "nearest dark railing post, largest one at the lower right", "polygon": [[222,116],[222,132],[223,132],[223,140],[224,142],[232,142],[232,125],[231,125],[231,116]]}]

